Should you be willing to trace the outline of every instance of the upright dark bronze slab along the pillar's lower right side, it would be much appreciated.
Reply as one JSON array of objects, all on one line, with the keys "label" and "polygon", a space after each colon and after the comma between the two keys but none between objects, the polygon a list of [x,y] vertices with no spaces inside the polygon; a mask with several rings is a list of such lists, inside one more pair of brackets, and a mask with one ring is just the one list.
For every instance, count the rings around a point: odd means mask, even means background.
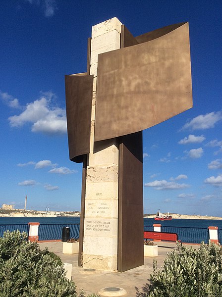
[{"label": "upright dark bronze slab along the pillar's lower right side", "polygon": [[144,264],[142,131],[120,138],[118,271]]}]

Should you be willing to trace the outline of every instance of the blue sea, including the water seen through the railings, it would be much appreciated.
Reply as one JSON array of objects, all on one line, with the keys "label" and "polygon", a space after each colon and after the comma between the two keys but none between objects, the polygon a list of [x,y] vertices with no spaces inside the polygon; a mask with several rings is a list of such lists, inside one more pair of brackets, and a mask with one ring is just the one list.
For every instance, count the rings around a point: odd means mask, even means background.
[{"label": "blue sea, including the water seen through the railings", "polygon": [[[61,228],[65,226],[73,226],[70,229],[70,236],[77,238],[79,236],[79,228],[69,224],[79,224],[80,217],[0,217],[0,237],[3,236],[3,231],[9,226],[2,225],[27,225],[29,222],[39,222],[41,224],[57,224],[57,225],[42,225],[42,231],[39,231],[40,240],[54,240],[61,238]],[[153,231],[153,224],[161,223],[162,232],[171,232],[178,235],[178,240],[183,243],[205,243],[209,240],[209,226],[218,227],[219,241],[222,242],[222,220],[201,220],[201,219],[172,219],[171,221],[155,221],[155,219],[144,218],[144,230]],[[28,225],[27,225],[28,226]],[[57,226],[57,227],[56,227]],[[20,227],[16,227],[19,230]],[[26,229],[22,227],[24,231]],[[130,230],[129,230],[130,231]],[[26,231],[27,232],[27,231]]]}]

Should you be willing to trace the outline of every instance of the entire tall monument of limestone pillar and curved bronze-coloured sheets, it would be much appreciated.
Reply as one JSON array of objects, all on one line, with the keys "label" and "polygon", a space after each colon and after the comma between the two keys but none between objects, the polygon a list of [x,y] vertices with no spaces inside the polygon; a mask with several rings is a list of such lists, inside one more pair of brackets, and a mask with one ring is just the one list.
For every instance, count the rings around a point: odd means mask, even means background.
[{"label": "entire tall monument of limestone pillar and curved bronze-coloured sheets", "polygon": [[133,37],[92,27],[87,72],[65,76],[70,160],[83,163],[79,265],[144,264],[142,130],[192,107],[188,23]]}]

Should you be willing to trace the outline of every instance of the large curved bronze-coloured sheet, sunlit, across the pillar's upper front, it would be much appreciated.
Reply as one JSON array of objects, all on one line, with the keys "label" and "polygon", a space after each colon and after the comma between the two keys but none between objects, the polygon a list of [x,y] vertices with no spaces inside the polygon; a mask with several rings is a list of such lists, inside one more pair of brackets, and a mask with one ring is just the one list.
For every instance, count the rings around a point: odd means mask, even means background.
[{"label": "large curved bronze-coloured sheet, sunlit, across the pillar's upper front", "polygon": [[188,23],[99,54],[95,141],[142,131],[191,107]]}]

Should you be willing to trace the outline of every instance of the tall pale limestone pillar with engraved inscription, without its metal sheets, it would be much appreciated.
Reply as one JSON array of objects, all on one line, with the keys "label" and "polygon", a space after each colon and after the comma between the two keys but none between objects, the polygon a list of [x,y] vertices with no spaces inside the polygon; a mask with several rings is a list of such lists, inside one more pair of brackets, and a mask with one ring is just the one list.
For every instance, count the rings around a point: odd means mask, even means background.
[{"label": "tall pale limestone pillar with engraved inscription, without its metal sheets", "polygon": [[117,270],[119,152],[116,139],[94,145],[97,64],[98,54],[120,48],[120,31],[116,17],[92,27],[90,74],[94,82],[81,262],[84,268],[101,270]]}]

